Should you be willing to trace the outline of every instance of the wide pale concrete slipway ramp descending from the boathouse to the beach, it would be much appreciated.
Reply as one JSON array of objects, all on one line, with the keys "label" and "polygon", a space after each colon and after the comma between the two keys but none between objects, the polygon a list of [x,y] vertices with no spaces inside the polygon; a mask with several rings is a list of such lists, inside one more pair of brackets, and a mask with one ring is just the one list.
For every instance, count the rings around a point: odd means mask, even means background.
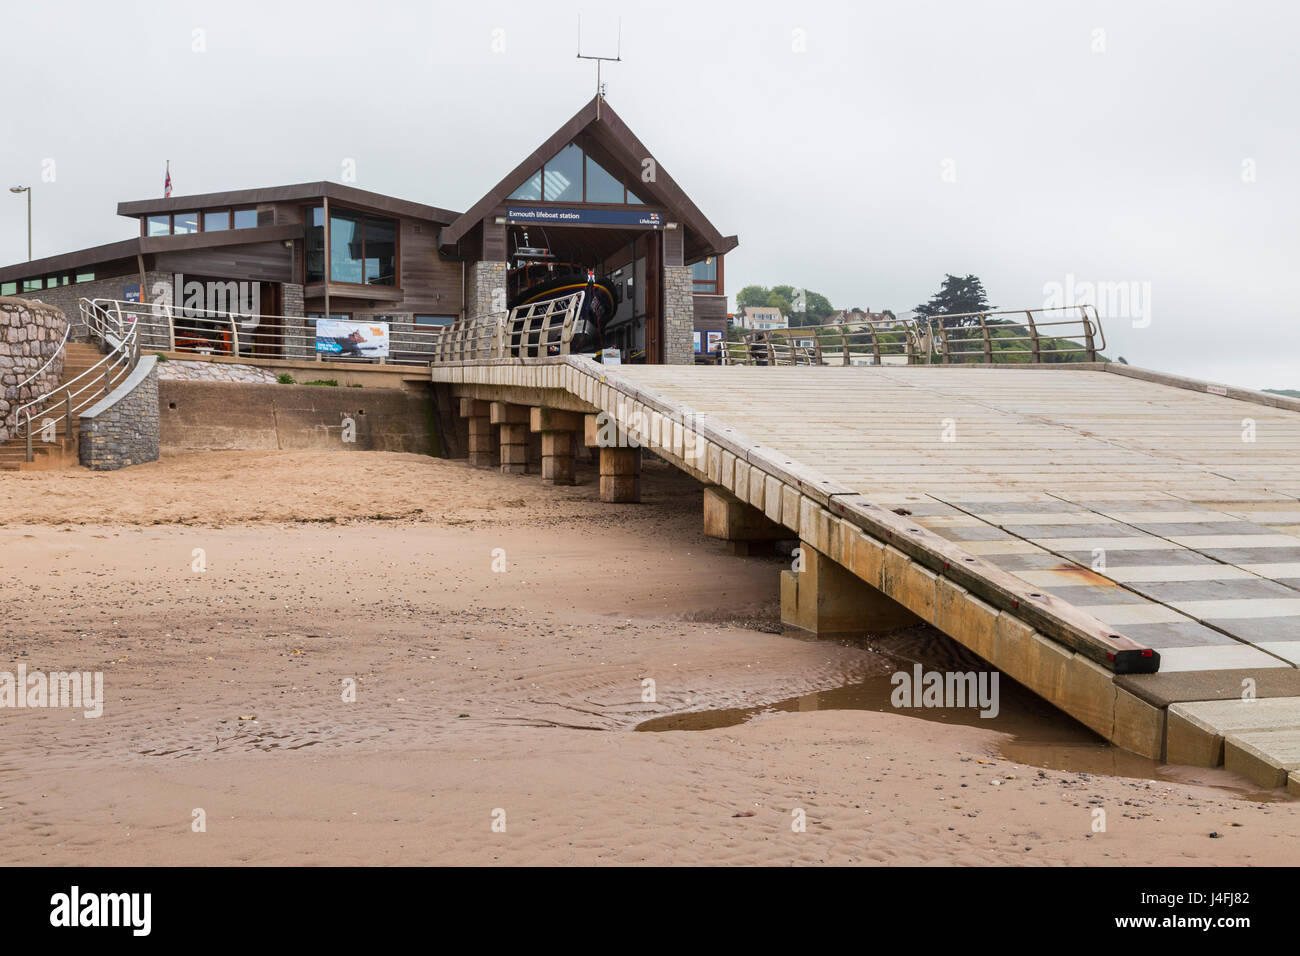
[{"label": "wide pale concrete slipway ramp descending from the boathouse to the beach", "polygon": [[1092,362],[432,377],[485,425],[604,412],[1108,740],[1300,787],[1295,399]]}]

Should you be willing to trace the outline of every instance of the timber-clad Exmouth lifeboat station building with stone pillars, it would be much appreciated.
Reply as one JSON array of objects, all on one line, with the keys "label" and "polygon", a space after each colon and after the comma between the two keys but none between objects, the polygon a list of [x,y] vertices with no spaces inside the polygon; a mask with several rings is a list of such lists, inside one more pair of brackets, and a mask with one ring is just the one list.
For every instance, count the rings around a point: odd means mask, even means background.
[{"label": "timber-clad Exmouth lifeboat station building with stone pillars", "polygon": [[725,336],[723,263],[737,246],[599,96],[467,212],[315,182],[117,213],[138,220],[138,237],[0,268],[0,295],[69,317],[82,298],[257,313],[263,334],[240,354],[287,359],[312,351],[291,343],[326,317],[384,321],[398,341],[503,311],[511,272],[532,256],[612,285],[604,345],[621,362],[688,364]]}]

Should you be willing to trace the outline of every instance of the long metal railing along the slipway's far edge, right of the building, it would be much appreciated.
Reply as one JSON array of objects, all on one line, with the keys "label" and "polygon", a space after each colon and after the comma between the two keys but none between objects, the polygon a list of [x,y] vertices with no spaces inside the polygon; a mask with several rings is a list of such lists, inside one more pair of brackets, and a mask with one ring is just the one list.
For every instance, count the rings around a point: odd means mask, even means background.
[{"label": "long metal railing along the slipway's far edge, right of the building", "polygon": [[1105,350],[1092,306],[741,330],[723,365],[926,365],[1096,362]]}]

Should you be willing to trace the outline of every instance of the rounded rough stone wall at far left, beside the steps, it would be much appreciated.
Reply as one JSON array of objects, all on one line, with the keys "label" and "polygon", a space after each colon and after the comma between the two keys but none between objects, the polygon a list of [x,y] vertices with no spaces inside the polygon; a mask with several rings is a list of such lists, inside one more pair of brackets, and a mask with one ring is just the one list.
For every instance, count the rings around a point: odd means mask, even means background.
[{"label": "rounded rough stone wall at far left, beside the steps", "polygon": [[[53,306],[0,298],[0,441],[8,441],[17,432],[21,406],[58,385],[64,371],[58,346],[66,328],[66,316]],[[49,368],[26,385],[18,385],[52,355],[55,360]]]}]

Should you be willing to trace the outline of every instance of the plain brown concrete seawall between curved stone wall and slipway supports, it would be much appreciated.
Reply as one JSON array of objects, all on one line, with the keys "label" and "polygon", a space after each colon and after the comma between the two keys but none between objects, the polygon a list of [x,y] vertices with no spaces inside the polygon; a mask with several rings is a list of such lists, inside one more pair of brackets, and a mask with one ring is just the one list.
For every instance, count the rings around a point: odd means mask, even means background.
[{"label": "plain brown concrete seawall between curved stone wall and slipway supports", "polygon": [[430,397],[406,389],[160,381],[159,419],[162,454],[438,451]]}]

